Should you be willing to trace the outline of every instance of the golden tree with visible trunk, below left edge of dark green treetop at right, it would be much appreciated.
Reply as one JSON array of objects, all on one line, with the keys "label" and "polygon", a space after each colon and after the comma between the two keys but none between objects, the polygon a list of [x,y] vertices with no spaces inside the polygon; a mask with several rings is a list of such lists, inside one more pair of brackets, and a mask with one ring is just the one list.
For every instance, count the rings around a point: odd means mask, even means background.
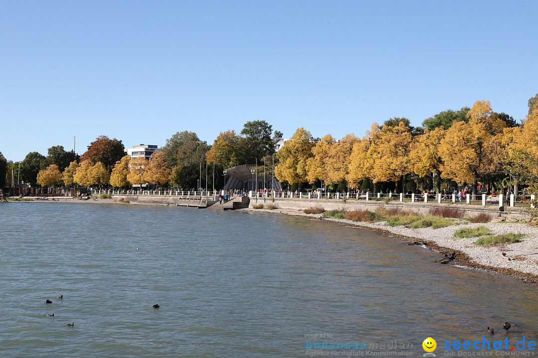
[{"label": "golden tree with visible trunk, below left edge of dark green treetop at right", "polygon": [[[410,170],[420,177],[424,177],[429,173],[436,173],[437,178],[441,179],[440,167],[443,160],[439,152],[439,146],[444,134],[443,127],[437,127],[434,130],[427,130],[426,133],[417,138],[417,141],[412,143],[409,152]],[[436,192],[441,192],[441,180],[437,180]]]}]

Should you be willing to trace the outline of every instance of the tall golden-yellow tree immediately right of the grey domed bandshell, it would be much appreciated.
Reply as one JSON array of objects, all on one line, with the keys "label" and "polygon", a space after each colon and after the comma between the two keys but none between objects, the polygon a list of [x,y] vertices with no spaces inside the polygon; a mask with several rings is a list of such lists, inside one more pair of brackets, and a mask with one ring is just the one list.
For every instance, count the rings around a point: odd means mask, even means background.
[{"label": "tall golden-yellow tree immediately right of the grey domed bandshell", "polygon": [[279,164],[274,169],[279,181],[287,181],[289,184],[307,181],[307,161],[313,156],[313,139],[312,134],[301,127],[280,148],[277,152]]}]

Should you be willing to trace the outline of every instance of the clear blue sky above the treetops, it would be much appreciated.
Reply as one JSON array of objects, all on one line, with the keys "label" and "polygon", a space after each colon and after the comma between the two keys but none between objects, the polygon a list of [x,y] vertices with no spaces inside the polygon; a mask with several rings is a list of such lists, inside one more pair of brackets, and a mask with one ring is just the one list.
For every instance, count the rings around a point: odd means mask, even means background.
[{"label": "clear blue sky above the treetops", "polygon": [[363,136],[538,92],[536,1],[0,0],[0,151],[22,160],[98,135],[125,147],[266,120]]}]

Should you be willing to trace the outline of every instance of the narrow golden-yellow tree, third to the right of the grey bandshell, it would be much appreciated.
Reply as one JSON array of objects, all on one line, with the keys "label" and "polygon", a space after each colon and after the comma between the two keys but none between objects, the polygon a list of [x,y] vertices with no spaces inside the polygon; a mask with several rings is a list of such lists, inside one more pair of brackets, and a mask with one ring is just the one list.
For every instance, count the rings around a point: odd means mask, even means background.
[{"label": "narrow golden-yellow tree, third to the right of the grey bandshell", "polygon": [[327,158],[328,180],[341,182],[349,175],[349,160],[353,145],[358,141],[355,134],[346,134],[341,140],[331,145]]}]

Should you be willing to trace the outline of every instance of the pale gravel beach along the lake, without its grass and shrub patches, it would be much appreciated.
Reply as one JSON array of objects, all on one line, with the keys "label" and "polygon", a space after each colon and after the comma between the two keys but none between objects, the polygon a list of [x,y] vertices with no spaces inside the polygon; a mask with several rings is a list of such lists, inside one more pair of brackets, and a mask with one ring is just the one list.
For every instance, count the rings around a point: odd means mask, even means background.
[{"label": "pale gravel beach along the lake, without its grass and shrub patches", "polygon": [[[457,225],[440,229],[411,229],[404,226],[390,227],[385,225],[385,222],[353,222],[345,219],[323,218],[322,214],[305,214],[302,210],[297,209],[266,210],[248,208],[242,210],[320,218],[330,222],[381,231],[386,235],[397,236],[406,240],[416,239],[430,246],[445,249],[445,251],[456,251],[458,254],[457,264],[511,274],[528,282],[538,281],[538,227],[525,223],[472,224],[464,220],[458,220]],[[477,238],[459,239],[454,237],[454,232],[458,229],[472,228],[479,225],[484,225],[490,229],[491,235],[513,232],[522,233],[525,237],[520,243],[489,247],[475,245],[474,242]],[[502,255],[502,253],[505,253],[506,256]],[[441,258],[442,255],[440,256]]]}]

